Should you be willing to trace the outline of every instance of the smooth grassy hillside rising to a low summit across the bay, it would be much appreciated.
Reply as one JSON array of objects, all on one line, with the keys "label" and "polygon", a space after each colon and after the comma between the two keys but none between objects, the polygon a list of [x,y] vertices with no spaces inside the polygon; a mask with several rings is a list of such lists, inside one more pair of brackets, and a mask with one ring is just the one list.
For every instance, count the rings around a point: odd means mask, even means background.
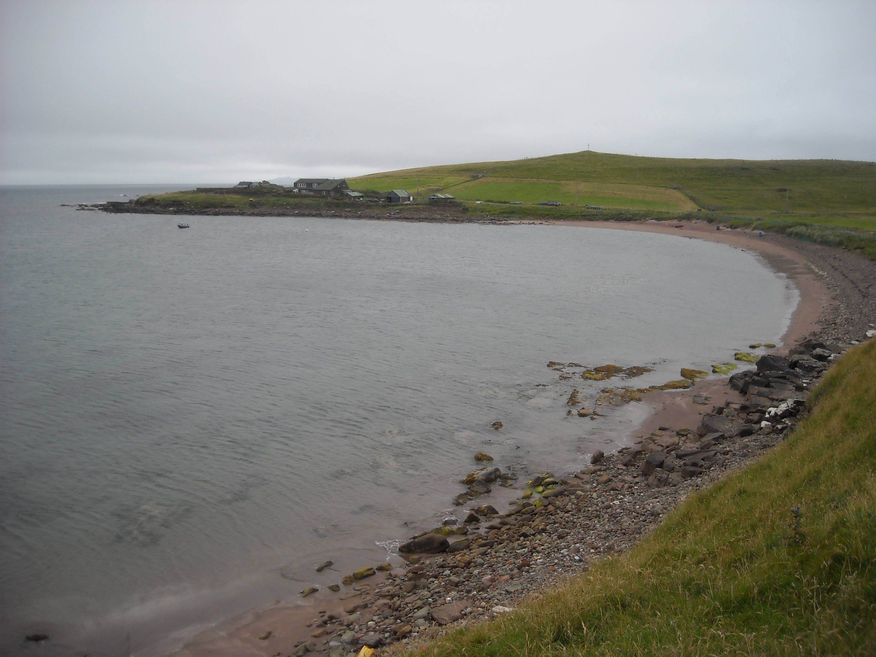
[{"label": "smooth grassy hillside rising to a low summit across the bay", "polygon": [[[487,178],[472,181],[471,173],[486,173]],[[464,190],[464,197],[479,185],[495,185],[498,181],[515,184],[519,180],[626,184],[653,187],[655,193],[677,187],[702,208],[752,216],[784,214],[786,194],[777,190],[788,188],[788,210],[795,216],[863,219],[868,226],[876,217],[876,164],[872,162],[645,158],[583,151],[375,173],[349,182],[356,188],[405,187],[413,191],[418,177],[421,195],[442,187],[455,195],[454,188]],[[587,202],[584,198],[579,201]],[[615,207],[631,206],[616,199]]]}]

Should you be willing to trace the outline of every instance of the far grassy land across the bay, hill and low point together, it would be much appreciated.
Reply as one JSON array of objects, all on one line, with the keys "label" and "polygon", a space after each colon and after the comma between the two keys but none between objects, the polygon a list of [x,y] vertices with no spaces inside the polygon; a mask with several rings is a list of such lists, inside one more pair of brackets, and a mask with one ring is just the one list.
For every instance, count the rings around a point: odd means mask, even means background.
[{"label": "far grassy land across the bay, hill and low point together", "polygon": [[[110,201],[100,209],[180,215],[307,215],[407,221],[503,220],[677,223],[702,219],[876,259],[876,163],[844,160],[646,158],[583,151],[544,158],[430,166],[348,179],[378,199],[404,188],[404,204],[321,199],[287,187],[240,194],[174,192]],[[430,194],[453,201],[428,201]],[[560,205],[539,205],[557,201]],[[596,209],[602,208],[602,209]]]}]

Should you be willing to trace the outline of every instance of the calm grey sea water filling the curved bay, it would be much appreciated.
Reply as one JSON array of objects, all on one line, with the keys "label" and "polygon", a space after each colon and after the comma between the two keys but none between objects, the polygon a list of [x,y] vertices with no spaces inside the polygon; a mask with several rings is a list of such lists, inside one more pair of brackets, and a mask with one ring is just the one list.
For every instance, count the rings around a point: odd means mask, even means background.
[{"label": "calm grey sea water filling the curved bay", "polygon": [[59,207],[147,191],[0,192],[0,653],[142,652],[383,561],[474,452],[526,475],[625,440],[637,410],[567,418],[597,386],[548,361],[663,383],[797,300],[684,237]]}]

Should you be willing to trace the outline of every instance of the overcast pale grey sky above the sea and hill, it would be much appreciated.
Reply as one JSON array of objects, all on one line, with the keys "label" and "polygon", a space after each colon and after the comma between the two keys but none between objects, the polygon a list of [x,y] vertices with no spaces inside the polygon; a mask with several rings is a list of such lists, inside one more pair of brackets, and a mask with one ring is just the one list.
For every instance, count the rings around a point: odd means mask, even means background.
[{"label": "overcast pale grey sky above the sea and hill", "polygon": [[0,0],[5,184],[876,160],[876,2]]}]

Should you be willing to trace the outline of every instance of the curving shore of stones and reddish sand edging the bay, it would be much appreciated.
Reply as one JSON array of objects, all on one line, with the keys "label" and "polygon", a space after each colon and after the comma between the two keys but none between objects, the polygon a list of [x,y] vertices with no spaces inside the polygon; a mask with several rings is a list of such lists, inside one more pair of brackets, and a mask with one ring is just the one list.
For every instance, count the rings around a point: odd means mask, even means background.
[{"label": "curving shore of stones and reddish sand edging the bay", "polygon": [[[650,223],[604,227],[670,232]],[[714,228],[700,226],[696,237],[716,239]],[[449,521],[399,547],[405,569],[393,569],[391,563],[365,567],[329,586],[335,591],[331,597],[314,596],[312,606],[252,611],[229,631],[214,631],[209,640],[195,638],[177,654],[351,657],[362,646],[380,653],[409,649],[449,629],[511,611],[524,598],[583,572],[590,562],[624,552],[691,493],[745,468],[784,440],[830,362],[851,344],[876,335],[871,296],[876,263],[781,236],[760,241],[743,231],[720,231],[717,238],[759,247],[756,251],[773,244],[802,253],[792,278],[798,286],[809,285],[802,299],[808,307],[798,307],[809,312],[809,319],[792,321],[786,343],[794,331],[807,331],[787,357],[767,354],[756,359],[753,370],[730,378],[652,392],[651,399],[672,395],[670,406],[702,410],[688,413],[684,422],[662,420],[617,453],[597,452],[583,471],[533,478],[510,508],[461,499],[466,508],[474,506],[463,522]],[[769,259],[768,253],[762,255]],[[824,299],[825,290],[830,300]],[[821,307],[816,306],[819,294]],[[809,331],[816,318],[817,330]],[[463,479],[470,487],[463,497],[476,498],[497,480],[513,484],[509,475],[490,466],[473,470]]]}]

